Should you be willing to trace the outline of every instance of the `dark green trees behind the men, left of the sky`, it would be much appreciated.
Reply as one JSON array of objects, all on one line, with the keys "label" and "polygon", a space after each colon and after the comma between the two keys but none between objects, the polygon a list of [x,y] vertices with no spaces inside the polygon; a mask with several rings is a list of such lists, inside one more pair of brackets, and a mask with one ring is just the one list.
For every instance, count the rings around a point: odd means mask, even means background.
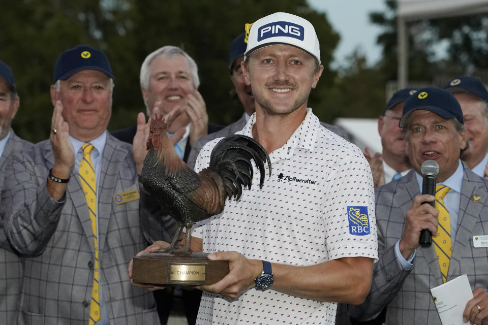
[{"label": "dark green trees behind the men, left of the sky", "polygon": [[234,109],[228,94],[230,43],[244,31],[245,23],[277,11],[302,16],[316,28],[325,69],[309,104],[319,117],[332,122],[323,100],[337,77],[329,63],[339,36],[326,15],[306,0],[18,0],[2,9],[0,59],[14,70],[21,107],[13,126],[27,140],[49,136],[54,62],[63,50],[77,44],[101,48],[109,57],[115,76],[109,130],[134,125],[137,113],[145,111],[140,66],[147,54],[164,45],[181,46],[196,60],[210,121],[225,125],[236,120],[241,112]]}]

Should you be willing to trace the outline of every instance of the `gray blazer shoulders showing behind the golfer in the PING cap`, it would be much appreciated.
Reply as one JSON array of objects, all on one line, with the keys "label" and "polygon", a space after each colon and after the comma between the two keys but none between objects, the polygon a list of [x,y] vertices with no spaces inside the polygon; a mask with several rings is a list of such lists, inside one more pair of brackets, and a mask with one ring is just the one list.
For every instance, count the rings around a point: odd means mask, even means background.
[{"label": "gray blazer shoulders showing behind the golfer in the PING cap", "polygon": [[[324,126],[325,128],[328,128],[330,131],[337,134],[338,136],[343,137],[344,139],[349,141],[349,136],[341,127],[330,125],[324,122],[320,122],[320,124],[322,124],[322,126]],[[246,126],[246,113],[242,114],[241,118],[239,118],[234,123],[227,125],[223,129],[200,138],[193,145],[192,151],[188,156],[187,165],[190,166],[191,169],[195,169],[195,163],[197,161],[198,154],[200,153],[200,150],[202,150],[203,146],[207,142],[217,138],[224,138],[230,136],[231,134],[234,134],[237,131],[241,131],[241,129],[243,129],[244,126]]]}]

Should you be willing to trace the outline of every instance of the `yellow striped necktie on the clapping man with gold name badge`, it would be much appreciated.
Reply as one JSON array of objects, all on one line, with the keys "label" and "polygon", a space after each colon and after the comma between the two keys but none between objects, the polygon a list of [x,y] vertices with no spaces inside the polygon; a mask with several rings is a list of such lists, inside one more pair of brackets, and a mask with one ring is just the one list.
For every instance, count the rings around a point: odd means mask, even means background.
[{"label": "yellow striped necktie on the clapping man with gold name badge", "polygon": [[95,324],[100,320],[100,294],[98,284],[98,240],[97,240],[97,180],[95,176],[95,168],[90,158],[93,145],[85,143],[82,147],[83,159],[80,162],[79,177],[81,187],[85,194],[86,205],[88,206],[88,213],[90,220],[92,220],[93,239],[95,242],[95,266],[93,274],[93,289],[92,302],[90,303],[90,318],[88,325]]}]

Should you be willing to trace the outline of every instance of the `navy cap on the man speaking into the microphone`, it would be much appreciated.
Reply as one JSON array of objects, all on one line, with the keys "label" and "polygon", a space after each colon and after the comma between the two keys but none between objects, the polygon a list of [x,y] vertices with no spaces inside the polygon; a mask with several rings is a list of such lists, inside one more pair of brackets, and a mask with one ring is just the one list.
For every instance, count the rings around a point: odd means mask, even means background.
[{"label": "navy cap on the man speaking into the microphone", "polygon": [[447,90],[436,87],[425,87],[411,95],[403,106],[399,126],[405,127],[407,117],[415,110],[428,110],[442,118],[456,118],[464,124],[463,111],[454,96]]}]

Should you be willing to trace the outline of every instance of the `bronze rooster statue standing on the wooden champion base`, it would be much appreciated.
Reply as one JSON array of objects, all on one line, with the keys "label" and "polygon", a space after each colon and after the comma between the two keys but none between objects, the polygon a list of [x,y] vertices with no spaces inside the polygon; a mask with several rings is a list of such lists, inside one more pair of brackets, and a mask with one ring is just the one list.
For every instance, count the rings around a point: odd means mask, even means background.
[{"label": "bronze rooster statue standing on the wooden champion base", "polygon": [[[154,196],[165,212],[178,222],[171,245],[160,252],[189,255],[193,223],[224,210],[226,198],[239,200],[242,186],[251,189],[255,161],[260,171],[259,187],[265,177],[265,163],[271,175],[271,162],[264,148],[254,139],[231,135],[212,150],[210,166],[194,172],[174,150],[167,134],[168,124],[156,116],[150,122],[147,155],[141,173],[144,189]],[[183,248],[178,247],[183,228],[187,229]]]}]

